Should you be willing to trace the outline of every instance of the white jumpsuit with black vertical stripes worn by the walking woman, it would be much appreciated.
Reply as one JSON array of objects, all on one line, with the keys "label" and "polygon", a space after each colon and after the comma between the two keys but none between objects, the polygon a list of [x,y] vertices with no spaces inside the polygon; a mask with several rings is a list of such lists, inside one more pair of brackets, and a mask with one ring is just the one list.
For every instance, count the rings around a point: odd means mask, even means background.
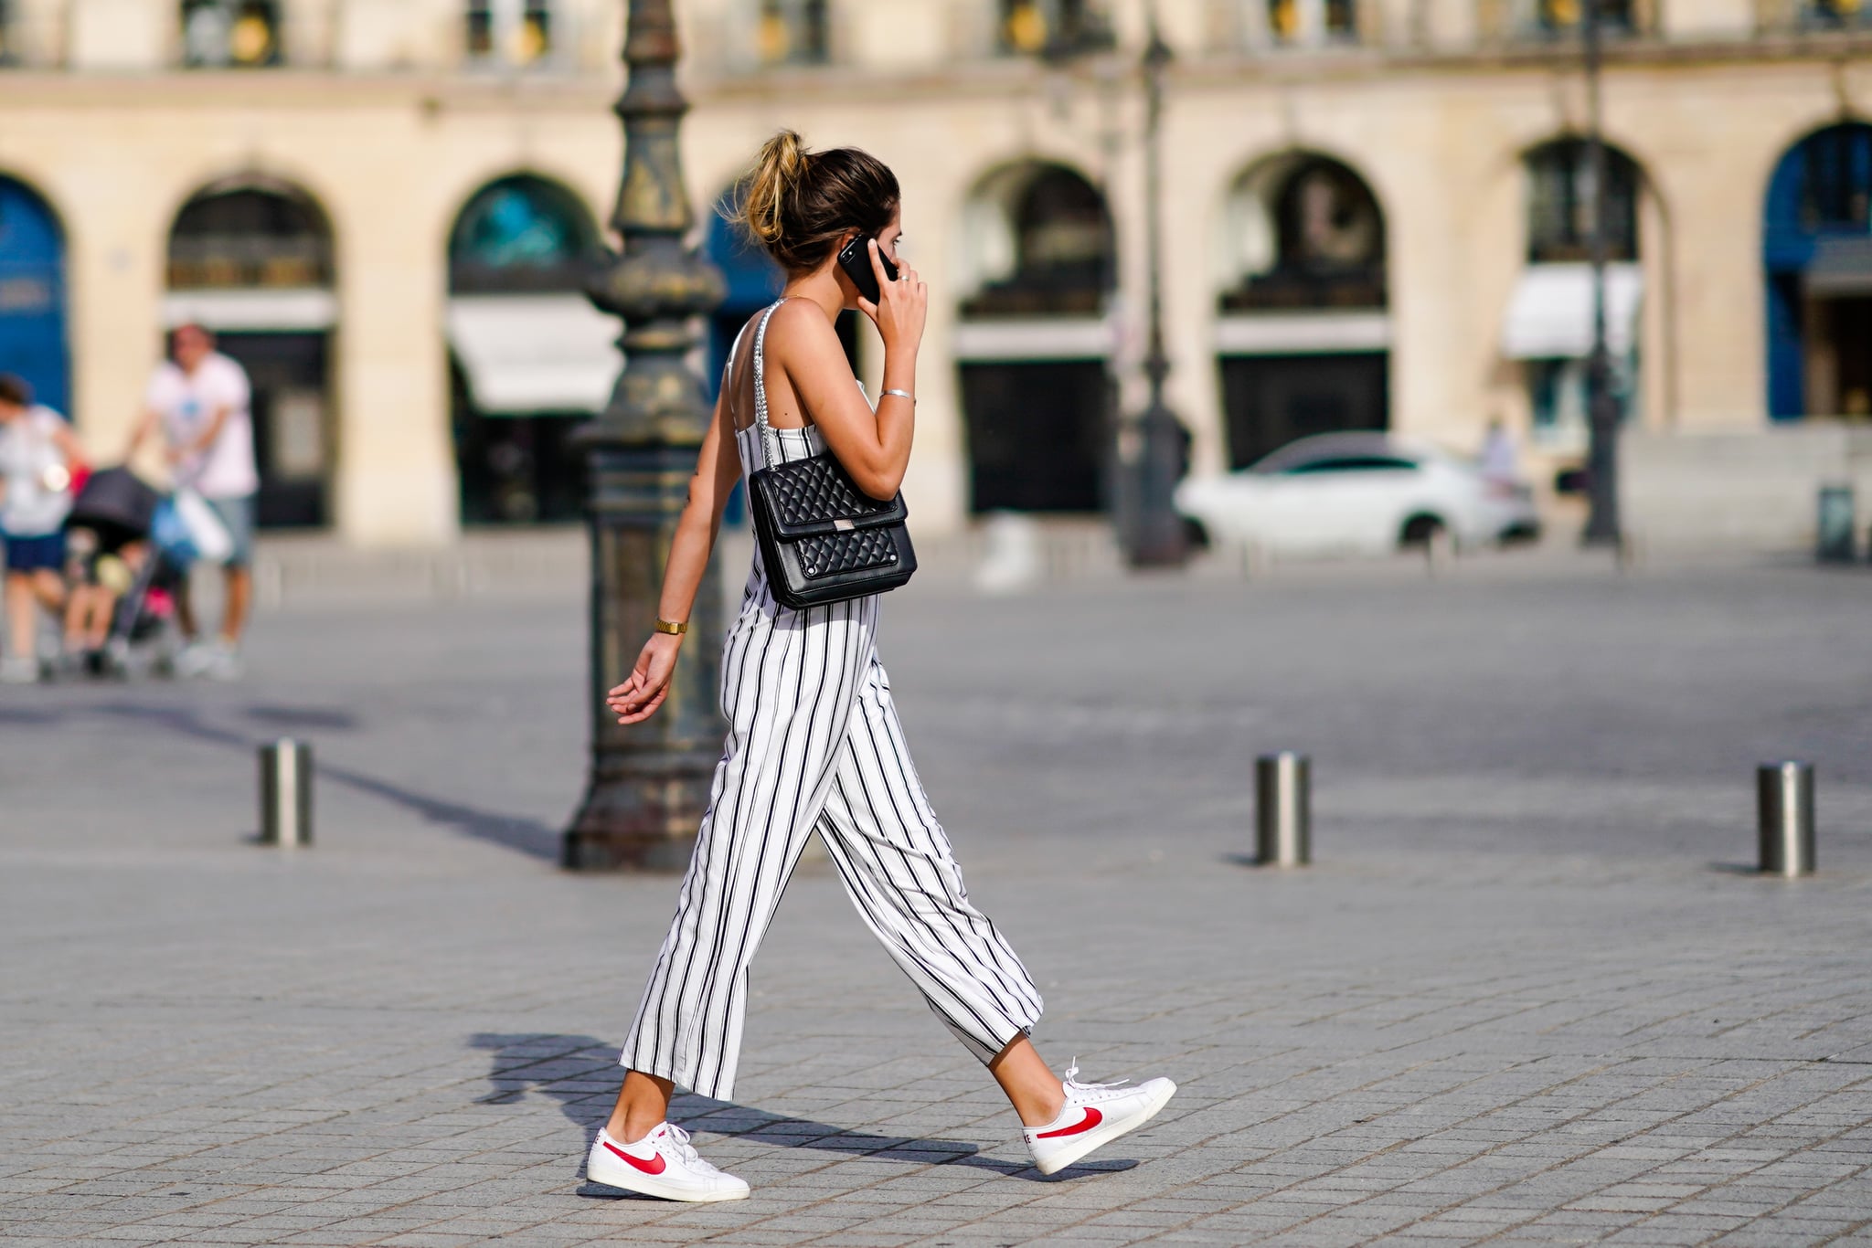
[{"label": "white jumpsuit with black vertical stripes worn by the walking woman", "polygon": [[[754,423],[736,432],[743,477],[769,453],[796,460],[826,445],[818,428],[768,425],[775,309],[754,329]],[[734,1095],[747,969],[814,831],[865,926],[975,1057],[987,1063],[1039,1022],[1039,990],[970,904],[910,763],[876,634],[876,595],[790,610],[768,589],[756,550],[723,651],[728,739],[620,1065],[704,1096]]]}]

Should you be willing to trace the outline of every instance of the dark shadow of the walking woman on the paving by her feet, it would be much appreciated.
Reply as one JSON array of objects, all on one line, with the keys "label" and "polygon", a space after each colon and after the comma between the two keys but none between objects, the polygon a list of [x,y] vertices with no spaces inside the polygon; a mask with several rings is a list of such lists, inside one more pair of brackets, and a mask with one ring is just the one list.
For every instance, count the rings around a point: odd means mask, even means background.
[{"label": "dark shadow of the walking woman on the paving by her feet", "polygon": [[[618,1095],[616,1089],[623,1078],[618,1068],[616,1044],[607,1044],[595,1037],[528,1033],[481,1033],[470,1044],[492,1052],[492,1070],[489,1070],[487,1081],[494,1091],[477,1098],[475,1104],[513,1104],[528,1093],[552,1096],[560,1102],[560,1113],[584,1132],[584,1145],[590,1149],[599,1126],[610,1117],[610,1108]],[[973,1166],[998,1175],[1018,1175],[1033,1183],[1060,1183],[1136,1166],[1134,1160],[1101,1160],[1069,1166],[1058,1175],[1041,1175],[1026,1164],[981,1156],[977,1145],[962,1139],[874,1136],[870,1132],[831,1126],[829,1123],[781,1117],[764,1110],[738,1106],[730,1100],[715,1100],[713,1096],[696,1096],[693,1093],[676,1095],[670,1102],[670,1117],[689,1128],[717,1136],[738,1136],[754,1143],[876,1156],[917,1166]],[[580,1162],[582,1158],[584,1153],[578,1154]],[[578,1194],[616,1196],[616,1188],[588,1183],[578,1188]]]}]

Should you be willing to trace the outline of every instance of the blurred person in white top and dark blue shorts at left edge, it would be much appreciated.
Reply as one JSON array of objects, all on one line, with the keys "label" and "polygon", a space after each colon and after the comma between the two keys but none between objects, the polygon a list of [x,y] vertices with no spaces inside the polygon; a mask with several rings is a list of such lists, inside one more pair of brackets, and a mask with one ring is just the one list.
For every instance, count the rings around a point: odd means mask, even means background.
[{"label": "blurred person in white top and dark blue shorts at left edge", "polygon": [[71,470],[84,458],[66,419],[0,374],[0,537],[6,537],[7,651],[0,681],[39,679],[39,608],[64,610]]}]

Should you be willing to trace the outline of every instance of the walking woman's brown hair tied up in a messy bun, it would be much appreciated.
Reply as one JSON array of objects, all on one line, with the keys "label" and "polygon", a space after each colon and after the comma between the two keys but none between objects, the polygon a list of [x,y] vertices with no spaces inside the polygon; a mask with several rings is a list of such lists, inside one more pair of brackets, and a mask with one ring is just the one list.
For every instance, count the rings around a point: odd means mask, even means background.
[{"label": "walking woman's brown hair tied up in a messy bun", "polygon": [[897,174],[869,152],[807,152],[782,129],[760,148],[726,217],[739,223],[788,273],[818,268],[857,230],[874,238],[899,204]]}]

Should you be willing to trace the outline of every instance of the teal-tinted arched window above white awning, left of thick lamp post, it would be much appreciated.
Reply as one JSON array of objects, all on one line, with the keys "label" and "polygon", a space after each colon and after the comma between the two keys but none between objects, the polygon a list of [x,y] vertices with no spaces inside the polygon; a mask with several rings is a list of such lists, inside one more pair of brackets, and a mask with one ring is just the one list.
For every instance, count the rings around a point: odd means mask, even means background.
[{"label": "teal-tinted arched window above white awning, left of thick lamp post", "polygon": [[597,247],[584,204],[543,178],[502,178],[462,210],[449,236],[455,294],[578,290]]}]

